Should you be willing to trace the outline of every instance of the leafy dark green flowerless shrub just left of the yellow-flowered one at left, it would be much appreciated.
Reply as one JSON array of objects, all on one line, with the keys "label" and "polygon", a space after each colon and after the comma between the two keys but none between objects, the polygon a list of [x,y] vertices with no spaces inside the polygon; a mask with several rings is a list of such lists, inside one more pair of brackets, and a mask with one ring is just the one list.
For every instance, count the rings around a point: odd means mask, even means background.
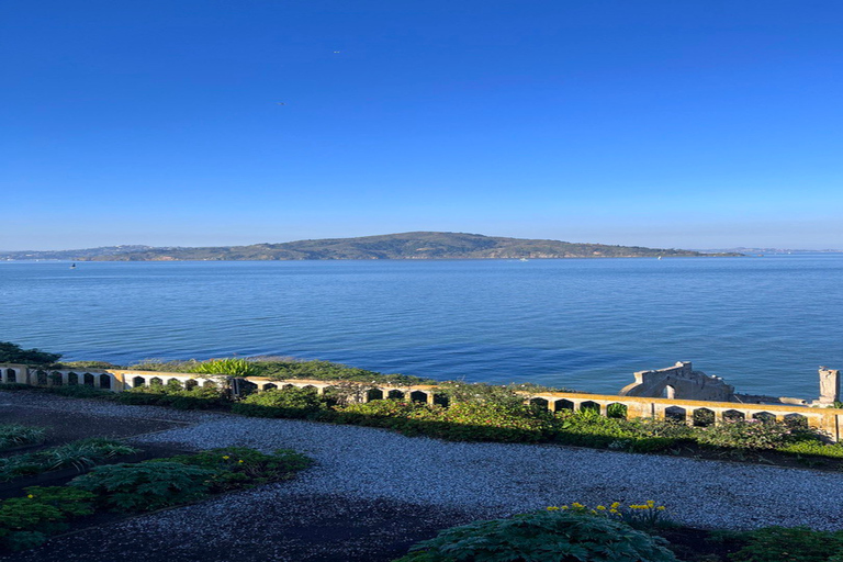
[{"label": "leafy dark green flowerless shrub just left of the yellow-flowered one at left", "polygon": [[146,512],[205,496],[214,471],[180,462],[111,464],[97,467],[70,482],[93,492],[116,512]]}]

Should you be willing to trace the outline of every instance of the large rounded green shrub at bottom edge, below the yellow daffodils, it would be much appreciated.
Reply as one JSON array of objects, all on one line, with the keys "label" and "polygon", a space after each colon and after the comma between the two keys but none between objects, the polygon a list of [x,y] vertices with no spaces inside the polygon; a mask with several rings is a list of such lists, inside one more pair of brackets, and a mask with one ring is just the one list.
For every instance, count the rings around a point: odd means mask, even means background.
[{"label": "large rounded green shrub at bottom edge, below the yellow daffodils", "polygon": [[605,517],[541,510],[453,527],[400,562],[675,562],[666,541]]}]

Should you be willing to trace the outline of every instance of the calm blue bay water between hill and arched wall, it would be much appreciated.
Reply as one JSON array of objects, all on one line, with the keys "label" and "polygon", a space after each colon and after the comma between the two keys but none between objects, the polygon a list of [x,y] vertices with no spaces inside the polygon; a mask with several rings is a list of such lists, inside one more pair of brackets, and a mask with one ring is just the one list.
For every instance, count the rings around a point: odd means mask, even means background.
[{"label": "calm blue bay water between hill and arched wall", "polygon": [[843,368],[843,255],[0,263],[0,340],[67,360],[254,355],[616,392],[678,360],[816,397]]}]

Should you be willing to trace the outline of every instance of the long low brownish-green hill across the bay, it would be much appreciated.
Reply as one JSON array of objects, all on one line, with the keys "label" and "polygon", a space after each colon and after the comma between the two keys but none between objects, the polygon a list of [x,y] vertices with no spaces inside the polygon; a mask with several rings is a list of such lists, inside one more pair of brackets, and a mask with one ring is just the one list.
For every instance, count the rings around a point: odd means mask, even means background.
[{"label": "long low brownish-green hill across the bay", "polygon": [[[18,251],[0,259],[65,259],[75,261],[247,261],[306,259],[539,259],[539,258],[644,258],[711,256],[692,250],[639,246],[572,244],[560,240],[503,238],[463,233],[403,233],[360,238],[327,238],[283,244],[220,246],[209,248],[153,248],[115,246],[87,250]],[[717,254],[740,256],[740,254]]]}]

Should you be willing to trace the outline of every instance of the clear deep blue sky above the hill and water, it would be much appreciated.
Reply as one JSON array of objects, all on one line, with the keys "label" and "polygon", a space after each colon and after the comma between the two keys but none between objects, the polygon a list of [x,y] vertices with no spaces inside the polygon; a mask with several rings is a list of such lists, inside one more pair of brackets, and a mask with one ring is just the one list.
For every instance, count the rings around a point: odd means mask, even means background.
[{"label": "clear deep blue sky above the hill and water", "polygon": [[839,0],[3,0],[0,249],[843,248],[842,55]]}]

